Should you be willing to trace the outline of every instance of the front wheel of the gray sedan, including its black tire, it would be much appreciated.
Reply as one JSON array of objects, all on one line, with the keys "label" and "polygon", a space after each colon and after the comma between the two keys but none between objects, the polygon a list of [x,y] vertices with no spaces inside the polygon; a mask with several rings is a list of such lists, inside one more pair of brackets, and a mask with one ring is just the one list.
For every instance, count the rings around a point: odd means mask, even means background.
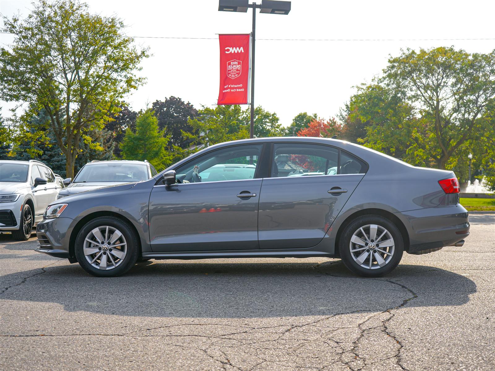
[{"label": "front wheel of the gray sedan, including its black tire", "polygon": [[[99,239],[102,241],[97,241]],[[86,223],[77,234],[75,244],[79,265],[96,277],[125,274],[136,264],[138,251],[136,232],[115,217],[99,217]]]}]

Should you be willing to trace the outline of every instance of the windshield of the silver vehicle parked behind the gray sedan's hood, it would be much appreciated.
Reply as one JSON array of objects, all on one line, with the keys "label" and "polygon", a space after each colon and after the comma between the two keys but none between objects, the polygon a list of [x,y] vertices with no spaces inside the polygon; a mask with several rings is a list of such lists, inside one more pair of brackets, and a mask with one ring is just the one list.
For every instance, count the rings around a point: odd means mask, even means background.
[{"label": "windshield of the silver vehicle parked behind the gray sedan's hood", "polygon": [[76,176],[76,179],[74,179],[74,183],[130,183],[146,181],[148,179],[148,166],[114,162],[84,166]]}]

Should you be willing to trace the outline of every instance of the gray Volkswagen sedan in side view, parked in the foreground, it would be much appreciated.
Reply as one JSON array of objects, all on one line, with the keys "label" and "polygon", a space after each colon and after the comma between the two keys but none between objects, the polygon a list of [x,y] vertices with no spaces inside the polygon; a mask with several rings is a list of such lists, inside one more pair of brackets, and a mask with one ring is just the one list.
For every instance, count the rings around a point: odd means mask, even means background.
[{"label": "gray Volkswagen sedan in side view, parked in the foreground", "polygon": [[147,181],[54,201],[44,217],[36,251],[99,277],[137,260],[315,256],[379,277],[404,251],[469,235],[453,172],[323,138],[216,144]]}]

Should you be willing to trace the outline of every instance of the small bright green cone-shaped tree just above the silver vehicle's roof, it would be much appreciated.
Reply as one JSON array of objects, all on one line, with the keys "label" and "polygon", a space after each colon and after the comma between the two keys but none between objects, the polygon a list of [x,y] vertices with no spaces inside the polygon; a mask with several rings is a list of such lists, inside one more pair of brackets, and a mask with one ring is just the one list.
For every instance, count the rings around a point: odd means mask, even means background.
[{"label": "small bright green cone-shaped tree just above the silver vehicle's roof", "polygon": [[148,160],[155,167],[170,162],[165,151],[168,137],[158,129],[158,119],[151,109],[140,112],[136,119],[136,131],[128,128],[121,145],[124,160]]}]

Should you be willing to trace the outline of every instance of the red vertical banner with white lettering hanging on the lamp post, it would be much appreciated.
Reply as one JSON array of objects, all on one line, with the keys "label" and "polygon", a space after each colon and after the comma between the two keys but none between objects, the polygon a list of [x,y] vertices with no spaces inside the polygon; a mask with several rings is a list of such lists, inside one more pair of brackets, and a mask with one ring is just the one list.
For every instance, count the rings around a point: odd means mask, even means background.
[{"label": "red vertical banner with white lettering hanging on the lamp post", "polygon": [[220,91],[217,104],[247,104],[250,35],[218,35],[218,39]]}]

